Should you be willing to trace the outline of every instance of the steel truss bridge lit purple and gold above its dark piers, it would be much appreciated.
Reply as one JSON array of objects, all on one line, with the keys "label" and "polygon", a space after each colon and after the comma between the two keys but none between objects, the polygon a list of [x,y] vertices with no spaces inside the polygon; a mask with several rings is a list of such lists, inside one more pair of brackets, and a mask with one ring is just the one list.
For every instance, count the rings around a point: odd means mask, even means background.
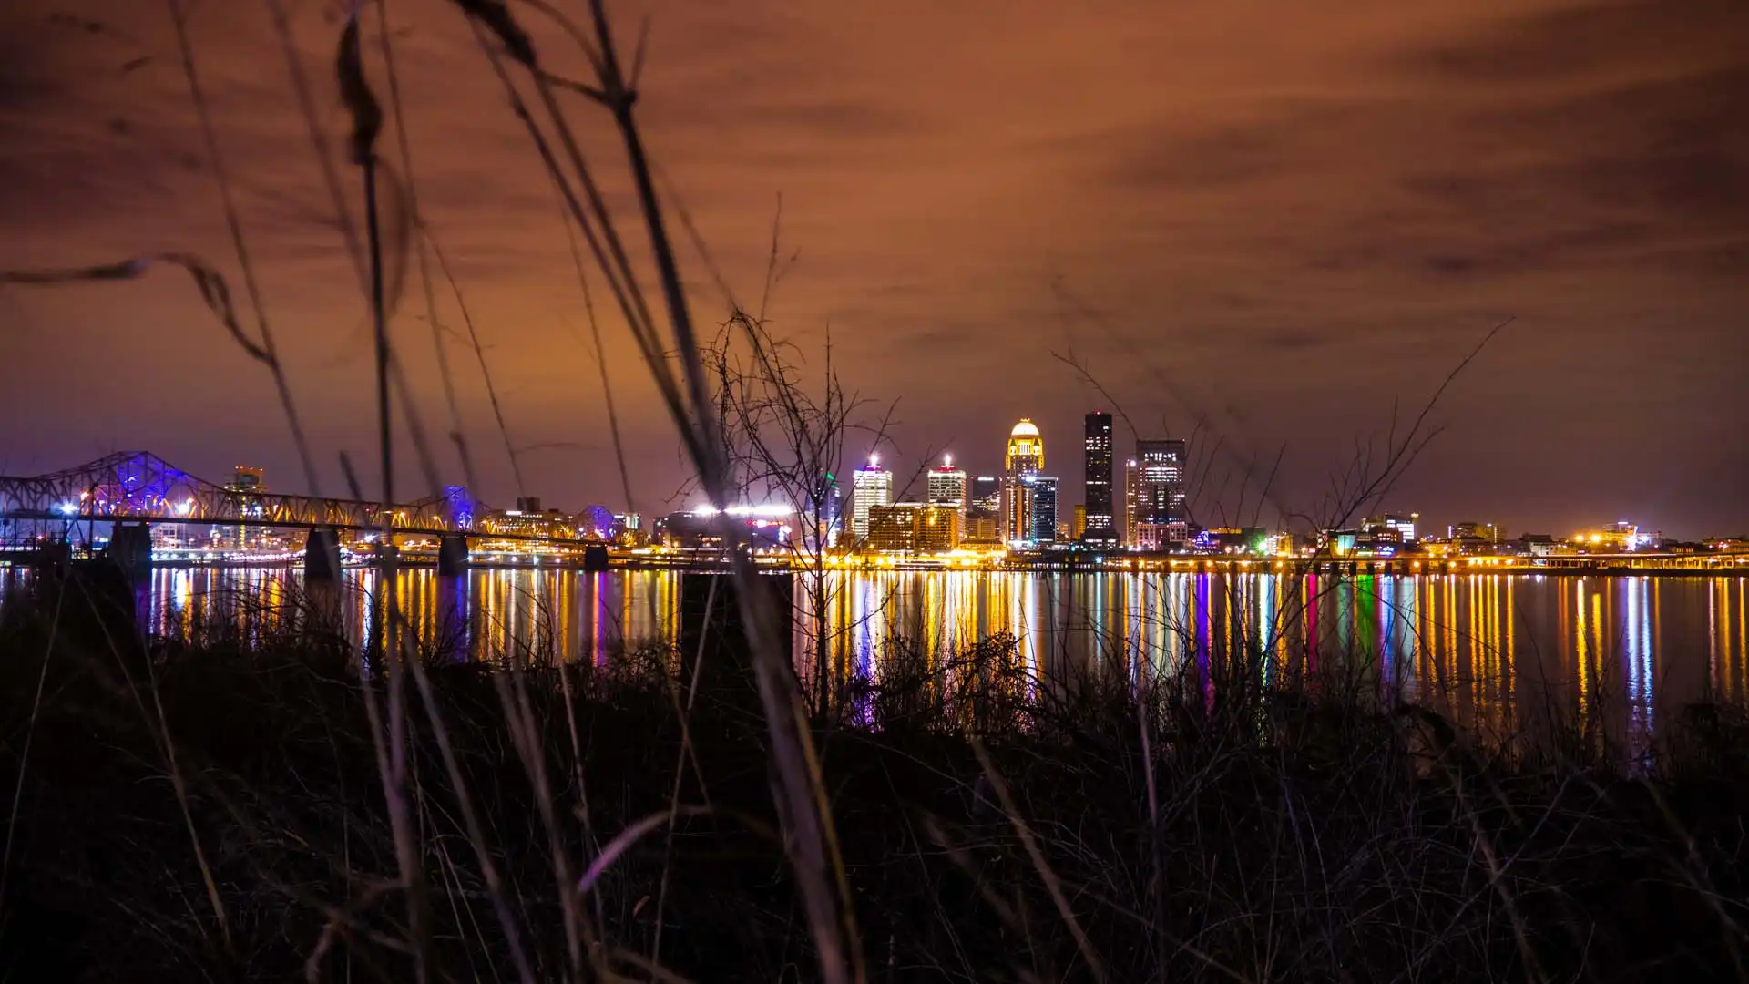
[{"label": "steel truss bridge lit purple and gold above its dark piers", "polygon": [[0,520],[388,529],[395,534],[549,539],[479,531],[476,511],[477,504],[462,488],[406,504],[252,492],[196,478],[149,452],[119,452],[52,474],[0,476]]}]

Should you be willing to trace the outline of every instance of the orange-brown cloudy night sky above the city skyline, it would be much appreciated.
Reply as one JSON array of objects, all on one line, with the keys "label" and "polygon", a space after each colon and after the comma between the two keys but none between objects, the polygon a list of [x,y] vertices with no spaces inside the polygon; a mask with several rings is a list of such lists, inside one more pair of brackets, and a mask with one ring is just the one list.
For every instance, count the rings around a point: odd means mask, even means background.
[{"label": "orange-brown cloudy night sky above the city skyline", "polygon": [[[282,7],[338,149],[345,5]],[[364,298],[269,5],[189,9],[324,483],[339,490],[346,450],[374,485]],[[1196,434],[1205,508],[1237,499],[1221,473],[1268,471],[1280,453],[1272,499],[1315,510],[1357,445],[1385,441],[1394,411],[1401,431],[1511,317],[1431,415],[1443,431],[1387,506],[1515,534],[1614,518],[1749,529],[1749,4],[616,9],[628,37],[647,16],[640,112],[677,203],[754,296],[782,198],[799,257],[773,329],[817,355],[829,327],[845,382],[897,401],[892,459],[946,448],[988,471],[1032,417],[1072,503],[1081,413],[1116,403],[1144,436]],[[619,508],[539,159],[451,4],[390,0],[388,16],[420,207],[488,347],[528,492]],[[551,32],[540,44],[582,74]],[[614,163],[607,121],[582,102],[574,119]],[[341,166],[357,210],[359,175]],[[168,5],[5,4],[0,268],[168,250],[208,257],[240,289]],[[721,317],[696,254],[684,261],[694,310]],[[439,320],[458,327],[441,292]],[[603,331],[635,504],[661,511],[686,476],[673,431],[623,326],[603,317]],[[441,436],[415,280],[394,333]],[[472,350],[451,333],[446,352],[479,492],[504,501],[514,481]],[[0,287],[0,415],[5,473],[150,448],[196,474],[250,462],[304,485],[269,378],[168,270]],[[458,478],[453,453],[442,467]]]}]

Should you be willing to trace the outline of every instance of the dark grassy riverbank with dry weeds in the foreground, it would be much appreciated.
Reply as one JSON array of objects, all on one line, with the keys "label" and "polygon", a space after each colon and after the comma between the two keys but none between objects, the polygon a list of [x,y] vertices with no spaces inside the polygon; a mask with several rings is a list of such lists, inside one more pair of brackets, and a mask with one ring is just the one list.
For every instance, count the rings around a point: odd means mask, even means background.
[{"label": "dark grassy riverbank with dry weeds in the foreground", "polygon": [[[1585,735],[1508,760],[1340,679],[1062,686],[1013,655],[894,646],[817,716],[869,980],[1749,970],[1749,732],[1716,709],[1628,779]],[[423,660],[373,706],[310,627],[170,644],[9,604],[0,973],[819,975],[733,657]],[[408,721],[404,811],[373,714]]]}]

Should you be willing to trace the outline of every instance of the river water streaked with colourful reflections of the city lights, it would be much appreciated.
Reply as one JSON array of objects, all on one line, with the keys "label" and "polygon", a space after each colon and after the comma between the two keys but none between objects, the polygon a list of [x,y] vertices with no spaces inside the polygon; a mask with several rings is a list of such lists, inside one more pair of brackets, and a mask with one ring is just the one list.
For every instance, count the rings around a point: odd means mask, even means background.
[{"label": "river water streaked with colourful reflections of the city lights", "polygon": [[[5,581],[24,576],[7,571]],[[680,578],[519,569],[448,580],[408,569],[399,594],[434,651],[602,662],[623,644],[675,641]],[[301,594],[299,581],[296,569],[157,569],[142,616],[154,634],[215,622],[252,630]],[[798,592],[805,583],[798,578]],[[1203,686],[1210,660],[1233,653],[1266,678],[1345,658],[1382,697],[1420,700],[1471,730],[1579,725],[1632,744],[1684,704],[1749,699],[1746,585],[1740,576],[873,571],[829,574],[824,608],[836,676],[878,678],[890,639],[951,653],[999,632],[1014,636],[1032,671],[1195,672]],[[373,571],[355,571],[339,592],[353,641],[374,629],[376,590]],[[806,679],[805,608],[796,641]]]}]

